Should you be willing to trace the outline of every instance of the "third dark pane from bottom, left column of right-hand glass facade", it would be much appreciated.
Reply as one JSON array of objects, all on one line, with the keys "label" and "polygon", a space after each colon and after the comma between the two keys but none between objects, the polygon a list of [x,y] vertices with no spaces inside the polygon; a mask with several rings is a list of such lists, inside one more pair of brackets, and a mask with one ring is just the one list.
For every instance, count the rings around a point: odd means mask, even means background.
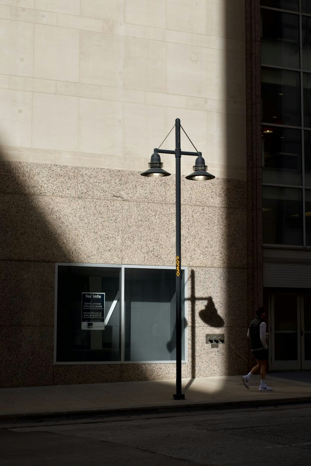
[{"label": "third dark pane from bottom, left column of right-hand glass facade", "polygon": [[300,126],[300,73],[263,67],[261,76],[263,122]]}]

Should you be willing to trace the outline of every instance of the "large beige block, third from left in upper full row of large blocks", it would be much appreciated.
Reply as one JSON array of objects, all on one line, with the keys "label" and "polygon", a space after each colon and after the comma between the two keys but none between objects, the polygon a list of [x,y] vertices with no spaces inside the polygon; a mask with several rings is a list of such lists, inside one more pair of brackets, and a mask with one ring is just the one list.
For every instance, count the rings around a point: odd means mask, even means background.
[{"label": "large beige block, third from left in upper full row of large blocks", "polygon": [[123,37],[81,31],[80,82],[123,87]]}]

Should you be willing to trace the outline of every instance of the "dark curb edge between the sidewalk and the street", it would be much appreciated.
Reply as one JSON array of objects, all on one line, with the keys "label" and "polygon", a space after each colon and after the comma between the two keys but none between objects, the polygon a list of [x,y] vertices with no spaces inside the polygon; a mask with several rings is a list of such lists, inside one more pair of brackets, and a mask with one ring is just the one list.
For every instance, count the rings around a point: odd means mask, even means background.
[{"label": "dark curb edge between the sidewalk and the street", "polygon": [[150,405],[150,406],[133,406],[127,408],[99,408],[99,409],[78,409],[70,411],[39,411],[27,412],[18,414],[0,414],[0,423],[3,422],[44,422],[45,418],[58,420],[66,419],[68,417],[78,417],[79,419],[90,417],[113,417],[125,416],[135,414],[159,414],[159,413],[176,413],[182,411],[200,411],[200,410],[228,410],[228,409],[246,409],[246,408],[259,408],[265,406],[279,406],[286,404],[305,404],[311,403],[311,396],[299,398],[270,398],[258,400],[243,400],[243,401],[226,401],[226,402],[212,402],[212,403],[180,403],[180,404],[163,404],[163,405]]}]

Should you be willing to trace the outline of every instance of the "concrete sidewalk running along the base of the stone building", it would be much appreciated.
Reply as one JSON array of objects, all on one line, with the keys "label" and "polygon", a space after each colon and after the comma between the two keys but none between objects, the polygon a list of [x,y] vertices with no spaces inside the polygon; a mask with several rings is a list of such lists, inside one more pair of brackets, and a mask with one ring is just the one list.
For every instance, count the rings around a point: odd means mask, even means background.
[{"label": "concrete sidewalk running along the base of the stone building", "polygon": [[113,413],[177,407],[220,408],[311,402],[311,371],[270,373],[273,391],[260,392],[260,377],[250,388],[241,376],[183,379],[186,399],[173,400],[174,380],[110,384],[57,385],[0,389],[0,420],[29,416]]}]

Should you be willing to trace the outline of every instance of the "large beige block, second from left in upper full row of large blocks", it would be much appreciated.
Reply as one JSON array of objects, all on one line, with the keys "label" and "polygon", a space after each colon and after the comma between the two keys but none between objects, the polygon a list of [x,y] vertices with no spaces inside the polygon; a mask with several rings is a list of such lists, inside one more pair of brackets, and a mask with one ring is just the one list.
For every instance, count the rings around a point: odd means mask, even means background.
[{"label": "large beige block, second from left in upper full row of large blocks", "polygon": [[34,76],[79,80],[79,31],[35,24]]}]

